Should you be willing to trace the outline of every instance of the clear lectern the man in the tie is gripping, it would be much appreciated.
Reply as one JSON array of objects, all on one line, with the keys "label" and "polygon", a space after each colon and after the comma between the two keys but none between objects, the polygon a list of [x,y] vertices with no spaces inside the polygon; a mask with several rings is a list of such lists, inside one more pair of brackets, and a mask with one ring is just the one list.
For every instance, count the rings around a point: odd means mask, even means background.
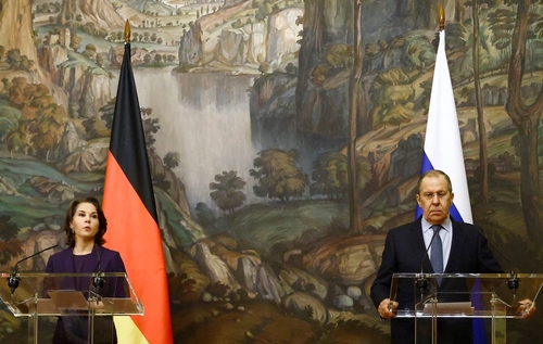
[{"label": "clear lectern the man in the tie is gripping", "polygon": [[414,320],[417,344],[439,343],[439,329],[453,319],[485,319],[490,342],[497,344],[505,340],[506,320],[521,319],[531,306],[519,302],[535,302],[542,288],[540,273],[394,273],[390,300],[400,304],[396,318]]}]

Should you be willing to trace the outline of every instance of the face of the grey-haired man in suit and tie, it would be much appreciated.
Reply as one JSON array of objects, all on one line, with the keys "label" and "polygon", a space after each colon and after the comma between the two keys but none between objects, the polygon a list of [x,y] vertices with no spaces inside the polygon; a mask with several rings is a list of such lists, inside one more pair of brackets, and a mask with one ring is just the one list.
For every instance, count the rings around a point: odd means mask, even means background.
[{"label": "face of the grey-haired man in suit and tie", "polygon": [[449,217],[449,208],[454,198],[454,193],[449,191],[445,177],[425,177],[418,192],[417,203],[425,219],[432,225],[442,224]]}]

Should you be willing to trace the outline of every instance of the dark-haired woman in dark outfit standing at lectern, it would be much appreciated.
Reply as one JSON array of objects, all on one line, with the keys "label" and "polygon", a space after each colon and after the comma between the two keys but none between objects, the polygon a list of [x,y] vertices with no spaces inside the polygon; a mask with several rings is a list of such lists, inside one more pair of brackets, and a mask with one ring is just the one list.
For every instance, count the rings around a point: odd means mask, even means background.
[{"label": "dark-haired woman in dark outfit standing at lectern", "polygon": [[[64,232],[66,245],[62,252],[53,254],[47,264],[46,272],[51,273],[92,273],[92,272],[125,272],[125,265],[118,252],[108,250],[103,235],[108,230],[108,221],[94,198],[75,200],[66,212]],[[75,290],[83,291],[85,296],[101,295],[109,297],[124,297],[122,279],[91,279],[64,278],[62,281],[53,279],[51,285],[45,283],[45,290]],[[98,302],[97,302],[98,303]],[[54,330],[53,343],[78,344],[88,343],[88,317],[63,316],[59,317]],[[112,317],[94,317],[94,343],[117,343],[115,327]]]}]

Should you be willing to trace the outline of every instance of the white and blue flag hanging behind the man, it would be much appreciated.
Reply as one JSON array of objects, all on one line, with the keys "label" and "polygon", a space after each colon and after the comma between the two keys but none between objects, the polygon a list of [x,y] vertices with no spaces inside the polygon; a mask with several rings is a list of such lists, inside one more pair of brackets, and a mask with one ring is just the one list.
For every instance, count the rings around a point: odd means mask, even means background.
[{"label": "white and blue flag hanging behind the man", "polygon": [[[445,30],[440,30],[439,35],[440,42],[433,71],[420,174],[430,169],[441,169],[447,174],[454,192],[454,203],[450,208],[450,214],[457,221],[472,224],[456,103],[445,54]],[[422,211],[417,205],[416,217],[421,215]],[[480,289],[479,281],[472,286],[472,295],[476,295]],[[479,297],[472,297],[471,302],[476,308],[482,307]],[[483,319],[476,318],[472,323],[473,342],[477,344],[487,343]]]}]

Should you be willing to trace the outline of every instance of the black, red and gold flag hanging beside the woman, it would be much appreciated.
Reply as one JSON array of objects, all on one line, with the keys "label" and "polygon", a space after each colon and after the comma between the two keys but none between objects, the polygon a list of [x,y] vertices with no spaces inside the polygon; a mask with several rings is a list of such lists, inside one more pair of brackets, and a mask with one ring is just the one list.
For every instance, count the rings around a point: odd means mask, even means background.
[{"label": "black, red and gold flag hanging beside the woman", "polygon": [[166,266],[149,169],[143,124],[130,65],[130,28],[105,169],[103,209],[106,246],[118,251],[144,316],[116,317],[118,343],[173,343]]}]

